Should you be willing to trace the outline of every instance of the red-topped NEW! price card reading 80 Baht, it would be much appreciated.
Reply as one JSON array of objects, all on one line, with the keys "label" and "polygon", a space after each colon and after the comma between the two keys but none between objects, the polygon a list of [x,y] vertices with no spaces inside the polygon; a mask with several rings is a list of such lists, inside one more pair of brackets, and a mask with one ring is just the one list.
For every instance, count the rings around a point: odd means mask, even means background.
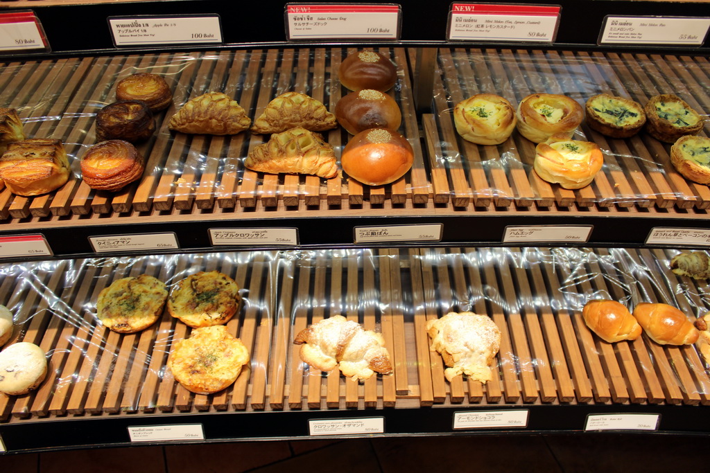
[{"label": "red-topped NEW! price card reading 80 Baht", "polygon": [[552,43],[561,10],[559,5],[454,3],[447,39]]}]

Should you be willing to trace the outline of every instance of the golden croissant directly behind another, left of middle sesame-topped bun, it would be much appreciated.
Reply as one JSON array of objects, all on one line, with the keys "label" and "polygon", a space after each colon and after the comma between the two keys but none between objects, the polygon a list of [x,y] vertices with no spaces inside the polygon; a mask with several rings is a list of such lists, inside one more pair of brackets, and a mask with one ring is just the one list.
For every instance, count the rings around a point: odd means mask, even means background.
[{"label": "golden croissant directly behind another, left of middle sesame-topped bun", "polygon": [[286,92],[273,99],[251,127],[252,133],[280,133],[300,126],[311,131],[337,126],[335,116],[316,99],[297,92]]}]

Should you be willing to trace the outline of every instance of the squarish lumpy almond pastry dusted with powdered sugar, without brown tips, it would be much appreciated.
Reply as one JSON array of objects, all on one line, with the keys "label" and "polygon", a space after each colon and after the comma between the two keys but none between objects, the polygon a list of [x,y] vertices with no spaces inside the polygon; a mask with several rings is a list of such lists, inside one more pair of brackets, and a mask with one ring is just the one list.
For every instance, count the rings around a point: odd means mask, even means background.
[{"label": "squarish lumpy almond pastry dusted with powdered sugar, without brown tips", "polygon": [[491,363],[501,346],[501,330],[488,316],[473,312],[449,312],[427,322],[432,339],[431,350],[441,353],[447,369],[444,376],[451,381],[459,374],[481,383],[493,379]]}]

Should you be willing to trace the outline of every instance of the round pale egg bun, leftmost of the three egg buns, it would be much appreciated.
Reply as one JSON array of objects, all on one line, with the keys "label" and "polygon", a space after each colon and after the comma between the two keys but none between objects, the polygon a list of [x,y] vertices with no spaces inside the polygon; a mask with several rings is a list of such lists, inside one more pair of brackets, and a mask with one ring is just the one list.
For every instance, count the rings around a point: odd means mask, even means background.
[{"label": "round pale egg bun, leftmost of the three egg buns", "polygon": [[457,132],[476,145],[500,145],[513,133],[517,121],[510,102],[494,94],[476,94],[454,107]]}]

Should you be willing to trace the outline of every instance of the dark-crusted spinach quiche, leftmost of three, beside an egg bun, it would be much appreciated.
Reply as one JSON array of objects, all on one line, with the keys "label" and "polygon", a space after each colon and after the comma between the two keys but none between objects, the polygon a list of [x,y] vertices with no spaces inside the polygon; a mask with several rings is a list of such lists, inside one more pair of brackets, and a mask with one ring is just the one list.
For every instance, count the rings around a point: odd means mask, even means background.
[{"label": "dark-crusted spinach quiche, leftmost of three, beside an egg bun", "polygon": [[646,113],[638,102],[609,94],[589,97],[584,107],[586,124],[611,138],[628,138],[646,123]]}]

